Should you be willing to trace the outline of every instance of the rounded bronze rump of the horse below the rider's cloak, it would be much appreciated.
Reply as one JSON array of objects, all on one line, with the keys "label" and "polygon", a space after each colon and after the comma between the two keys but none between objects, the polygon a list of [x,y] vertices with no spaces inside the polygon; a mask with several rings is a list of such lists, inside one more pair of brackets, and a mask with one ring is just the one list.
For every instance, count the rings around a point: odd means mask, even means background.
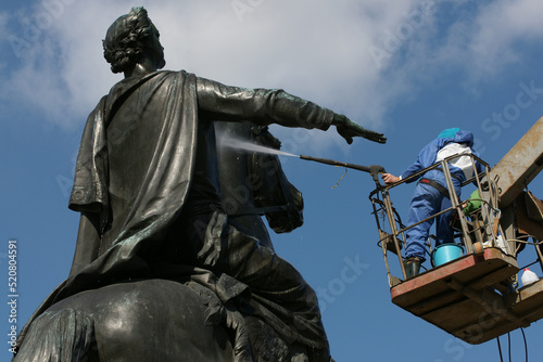
[{"label": "rounded bronze rump of the horse below the rider's cloak", "polygon": [[166,280],[83,292],[33,323],[15,361],[232,361],[226,329],[205,325],[205,301]]}]

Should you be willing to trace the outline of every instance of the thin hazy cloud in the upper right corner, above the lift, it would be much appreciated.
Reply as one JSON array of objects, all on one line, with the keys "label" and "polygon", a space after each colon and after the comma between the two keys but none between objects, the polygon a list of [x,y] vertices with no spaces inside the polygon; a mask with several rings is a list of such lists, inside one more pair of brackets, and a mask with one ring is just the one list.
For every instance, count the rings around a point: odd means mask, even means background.
[{"label": "thin hazy cloud in the upper right corner, above the lift", "polygon": [[469,86],[521,63],[529,48],[519,46],[535,43],[543,36],[540,1],[441,1],[437,9],[441,27],[408,60],[432,74],[459,69],[464,74],[459,81]]}]

